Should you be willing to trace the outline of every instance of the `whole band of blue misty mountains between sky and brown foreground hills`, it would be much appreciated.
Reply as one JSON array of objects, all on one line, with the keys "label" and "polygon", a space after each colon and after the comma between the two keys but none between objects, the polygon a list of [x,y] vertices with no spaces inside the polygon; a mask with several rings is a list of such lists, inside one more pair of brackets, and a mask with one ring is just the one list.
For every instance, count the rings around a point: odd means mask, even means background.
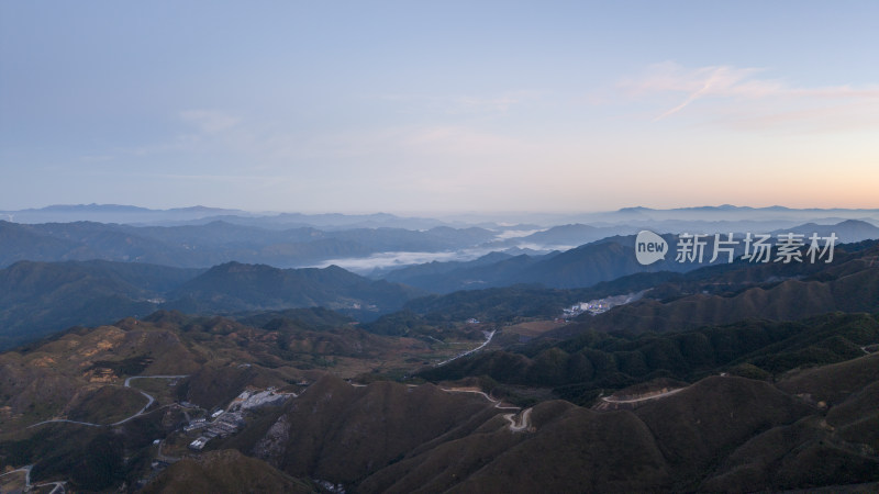
[{"label": "whole band of blue misty mountains between sky and brown foreground hills", "polygon": [[[824,213],[733,206],[630,209],[603,213],[603,226],[563,224],[534,232],[535,225],[482,223],[453,227],[441,221],[425,224],[423,218],[388,214],[271,216],[205,207],[156,211],[112,205],[25,210],[8,214],[77,221],[34,224],[0,221],[3,268],[0,336],[3,346],[8,346],[65,327],[109,323],[157,308],[231,314],[326,306],[361,321],[372,321],[429,293],[519,284],[582,289],[621,277],[682,273],[708,265],[708,259],[702,263],[676,262],[674,252],[669,252],[663,261],[642,266],[632,254],[633,234],[643,226],[609,225],[610,220],[656,217],[660,226],[674,223],[691,232],[710,225],[759,227],[766,228],[759,232],[775,235],[834,233],[841,244],[879,238],[879,228],[860,220],[830,225],[809,222],[769,229],[779,222]],[[833,213],[872,214],[859,210]],[[744,214],[756,216],[738,218]],[[219,216],[224,220],[215,220]],[[146,223],[145,220],[174,223],[186,217],[196,224],[135,226],[81,221],[96,217],[140,218],[141,223]],[[311,224],[289,226],[287,220],[293,217],[296,222]],[[713,217],[722,220],[710,221]],[[400,227],[411,221],[433,226]],[[274,226],[260,222],[274,222]],[[397,226],[363,226],[370,223]],[[675,237],[665,235],[665,238],[674,248]],[[709,238],[709,249],[712,242]],[[575,247],[548,250],[559,245]],[[431,257],[442,260],[418,263]],[[307,266],[326,268],[302,268]],[[356,269],[359,276],[343,269],[345,266]],[[557,300],[563,299],[567,301],[565,296]]]}]

